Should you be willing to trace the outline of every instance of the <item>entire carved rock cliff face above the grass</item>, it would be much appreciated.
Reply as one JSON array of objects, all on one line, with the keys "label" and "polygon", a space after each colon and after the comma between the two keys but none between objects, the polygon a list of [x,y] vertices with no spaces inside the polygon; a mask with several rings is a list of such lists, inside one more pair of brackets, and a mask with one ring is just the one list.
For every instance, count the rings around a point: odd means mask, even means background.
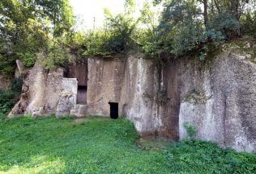
[{"label": "entire carved rock cliff face above the grass", "polygon": [[[70,71],[72,78],[62,77],[61,69],[45,72],[35,66],[24,75],[23,93],[10,116],[109,117],[114,103],[118,116],[134,122],[142,136],[184,139],[183,124],[189,122],[198,139],[255,152],[256,64],[237,50],[228,48],[206,62],[181,58],[164,65],[139,56],[89,59],[88,71]],[[86,105],[76,104],[75,78],[87,85]]]}]

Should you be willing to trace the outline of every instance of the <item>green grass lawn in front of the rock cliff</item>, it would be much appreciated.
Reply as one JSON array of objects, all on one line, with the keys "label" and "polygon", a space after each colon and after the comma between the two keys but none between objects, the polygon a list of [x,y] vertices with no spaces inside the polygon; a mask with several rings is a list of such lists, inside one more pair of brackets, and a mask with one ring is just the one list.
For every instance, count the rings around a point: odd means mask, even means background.
[{"label": "green grass lawn in front of the rock cliff", "polygon": [[162,148],[157,141],[160,148],[151,148],[154,143],[141,148],[143,143],[138,146],[134,126],[125,119],[2,119],[0,173],[256,171],[256,155],[224,150],[214,143],[187,140]]}]

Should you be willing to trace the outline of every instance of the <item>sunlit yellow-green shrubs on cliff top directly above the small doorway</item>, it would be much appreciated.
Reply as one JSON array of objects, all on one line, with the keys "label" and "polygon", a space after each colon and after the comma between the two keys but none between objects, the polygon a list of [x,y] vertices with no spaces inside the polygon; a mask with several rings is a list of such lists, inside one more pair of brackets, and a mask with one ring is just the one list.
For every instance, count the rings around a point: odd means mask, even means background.
[{"label": "sunlit yellow-green shrubs on cliff top directly above the small doorway", "polygon": [[134,31],[138,20],[132,17],[134,1],[126,1],[125,12],[113,15],[105,9],[105,27],[86,35],[85,56],[111,56],[126,53],[134,46]]}]

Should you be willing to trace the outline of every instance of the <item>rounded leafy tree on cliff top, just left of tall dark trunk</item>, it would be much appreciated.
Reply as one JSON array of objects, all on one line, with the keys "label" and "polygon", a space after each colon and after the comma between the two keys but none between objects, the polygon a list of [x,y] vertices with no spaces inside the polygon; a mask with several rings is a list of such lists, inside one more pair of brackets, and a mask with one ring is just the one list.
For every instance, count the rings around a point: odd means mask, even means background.
[{"label": "rounded leafy tree on cliff top, just left of tall dark trunk", "polygon": [[202,22],[197,20],[200,12],[190,1],[174,0],[165,5],[158,31],[169,54],[185,55],[198,48],[203,33]]}]

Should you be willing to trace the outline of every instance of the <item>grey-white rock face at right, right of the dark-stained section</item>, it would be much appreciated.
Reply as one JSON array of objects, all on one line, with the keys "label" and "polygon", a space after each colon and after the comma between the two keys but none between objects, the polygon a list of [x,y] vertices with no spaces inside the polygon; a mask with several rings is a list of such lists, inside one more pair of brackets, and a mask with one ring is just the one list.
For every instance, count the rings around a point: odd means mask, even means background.
[{"label": "grey-white rock face at right, right of the dark-stained section", "polygon": [[256,64],[233,48],[198,68],[190,64],[182,73],[180,138],[186,137],[183,122],[190,122],[199,139],[256,151]]}]

